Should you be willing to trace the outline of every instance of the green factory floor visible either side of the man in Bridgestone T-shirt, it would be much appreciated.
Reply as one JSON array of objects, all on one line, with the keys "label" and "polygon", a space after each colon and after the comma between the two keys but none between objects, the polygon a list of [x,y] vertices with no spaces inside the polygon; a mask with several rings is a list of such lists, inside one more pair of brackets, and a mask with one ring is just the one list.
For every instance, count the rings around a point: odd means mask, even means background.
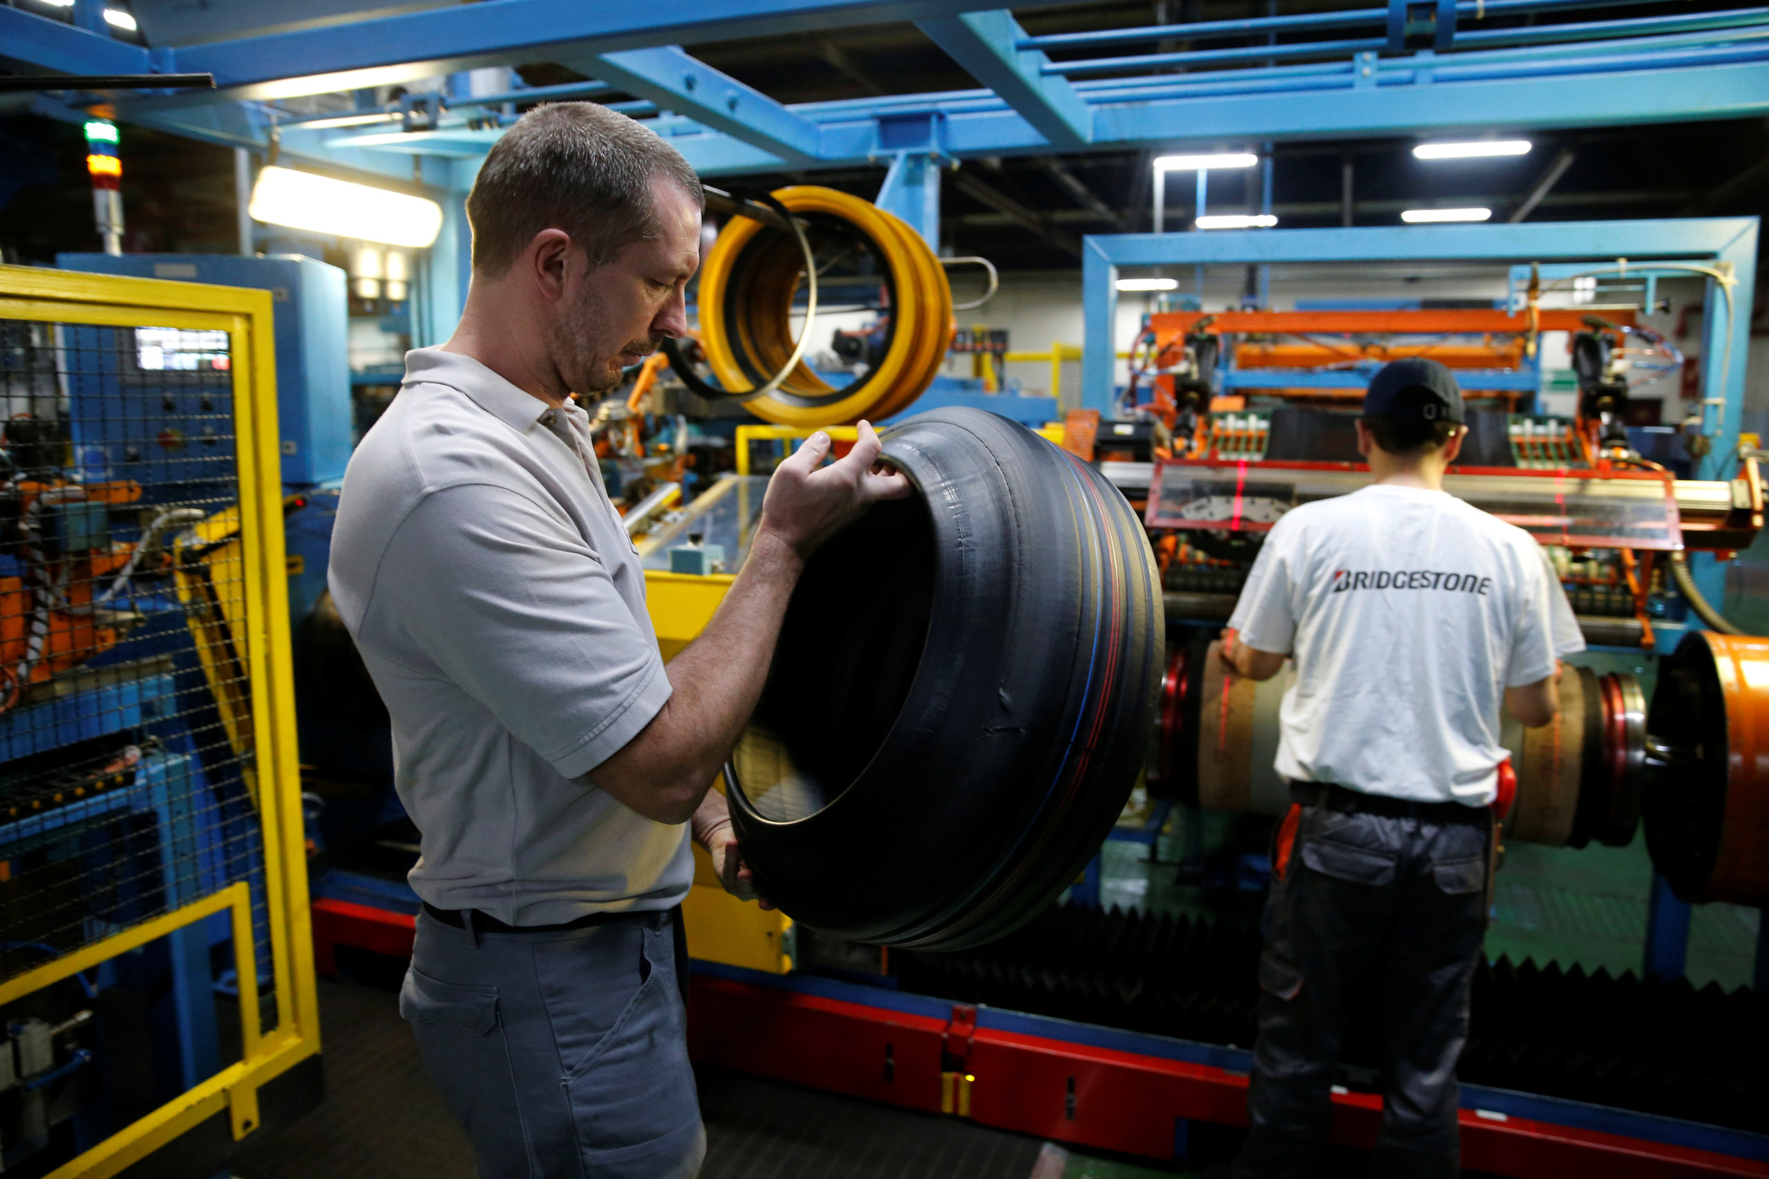
[{"label": "green factory floor visible either side of the man in Bridgestone T-shirt", "polygon": [[[1155,844],[1107,841],[1100,866],[1100,905],[1153,912],[1252,917],[1254,894],[1226,889],[1205,890],[1180,882],[1187,823],[1203,823],[1205,848],[1235,846],[1263,852],[1260,820],[1175,807]],[[1194,844],[1198,846],[1198,844]],[[1645,839],[1635,836],[1626,848],[1541,848],[1512,844],[1505,850],[1493,898],[1493,922],[1486,952],[1512,961],[1534,958],[1562,968],[1583,967],[1610,974],[1640,972],[1647,936],[1647,896],[1652,864]],[[1723,990],[1750,986],[1757,954],[1758,912],[1739,905],[1698,905],[1689,919],[1688,975],[1695,986],[1718,982]]]}]

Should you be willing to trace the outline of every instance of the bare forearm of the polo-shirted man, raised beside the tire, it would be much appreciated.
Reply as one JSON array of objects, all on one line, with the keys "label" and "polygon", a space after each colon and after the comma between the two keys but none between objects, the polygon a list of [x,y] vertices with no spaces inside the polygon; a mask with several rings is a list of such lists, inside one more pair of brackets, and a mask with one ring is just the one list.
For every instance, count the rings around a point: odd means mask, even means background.
[{"label": "bare forearm of the polo-shirted man, raised beside the tire", "polygon": [[757,529],[713,620],[665,667],[669,701],[591,774],[598,784],[649,818],[693,814],[755,710],[803,568],[791,545]]}]

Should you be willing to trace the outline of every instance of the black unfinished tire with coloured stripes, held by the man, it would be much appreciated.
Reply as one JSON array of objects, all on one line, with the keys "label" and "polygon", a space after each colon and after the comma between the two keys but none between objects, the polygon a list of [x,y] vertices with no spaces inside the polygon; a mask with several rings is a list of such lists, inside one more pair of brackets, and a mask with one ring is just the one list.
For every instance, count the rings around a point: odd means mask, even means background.
[{"label": "black unfinished tire with coloured stripes, held by the man", "polygon": [[755,724],[796,777],[731,790],[762,892],[854,942],[962,949],[1038,913],[1143,768],[1166,651],[1136,512],[975,409],[884,434],[916,494],[810,561]]}]

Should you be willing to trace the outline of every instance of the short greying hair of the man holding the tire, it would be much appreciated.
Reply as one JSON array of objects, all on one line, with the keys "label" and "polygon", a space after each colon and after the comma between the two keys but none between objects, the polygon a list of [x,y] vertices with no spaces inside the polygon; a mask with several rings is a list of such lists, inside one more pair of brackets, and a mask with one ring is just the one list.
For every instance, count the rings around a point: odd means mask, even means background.
[{"label": "short greying hair of the man holding the tire", "polygon": [[704,209],[701,177],[649,127],[596,103],[548,103],[492,145],[467,195],[472,269],[504,274],[534,235],[561,228],[605,266],[658,235],[651,181],[667,177]]}]

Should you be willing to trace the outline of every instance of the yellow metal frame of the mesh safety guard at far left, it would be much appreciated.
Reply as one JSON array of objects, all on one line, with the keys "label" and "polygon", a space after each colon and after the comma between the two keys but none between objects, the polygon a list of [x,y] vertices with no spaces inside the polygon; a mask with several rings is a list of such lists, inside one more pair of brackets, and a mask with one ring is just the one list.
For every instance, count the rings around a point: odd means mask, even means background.
[{"label": "yellow metal frame of the mesh safety guard at far left", "polygon": [[258,1089],[320,1050],[308,864],[290,680],[281,455],[276,428],[276,356],[271,292],[157,278],[76,274],[0,266],[0,319],[97,328],[189,328],[228,333],[234,358],[234,434],[239,462],[241,565],[246,618],[235,641],[251,682],[251,738],[264,823],[276,1029],[258,1027],[258,975],[246,883],[131,926],[0,982],[0,1004],[145,945],[211,913],[232,910],[241,988],[242,1057],[209,1080],[124,1126],[62,1165],[50,1179],[108,1179],[226,1108],[235,1138],[258,1128]]}]

